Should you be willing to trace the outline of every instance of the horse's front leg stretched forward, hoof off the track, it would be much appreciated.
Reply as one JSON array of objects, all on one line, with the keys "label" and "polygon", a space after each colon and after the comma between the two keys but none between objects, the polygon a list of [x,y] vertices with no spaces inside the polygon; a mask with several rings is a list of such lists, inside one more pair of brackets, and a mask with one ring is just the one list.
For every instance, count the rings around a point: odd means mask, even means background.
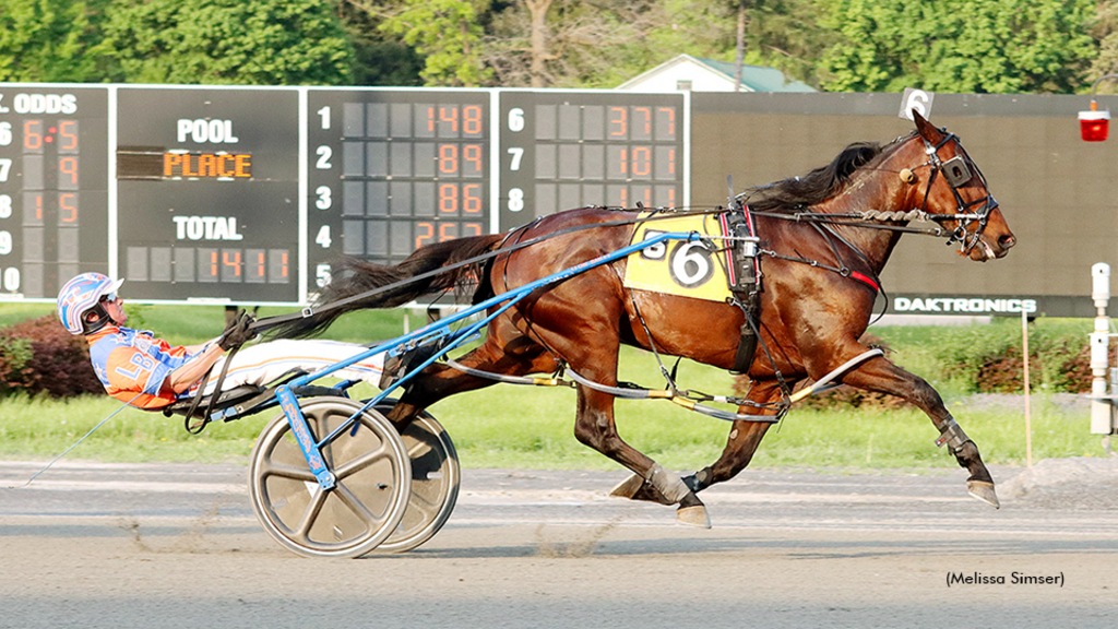
[{"label": "horse's front leg stretched forward, hoof off the track", "polygon": [[927,381],[906,372],[884,357],[868,360],[842,379],[844,384],[851,386],[896,395],[923,411],[939,431],[940,436],[936,440],[936,444],[947,445],[959,466],[970,472],[970,477],[967,478],[967,491],[994,508],[1001,506],[994,490],[994,478],[982,462],[978,445],[963,432],[955,417],[947,411],[939,393]]}]

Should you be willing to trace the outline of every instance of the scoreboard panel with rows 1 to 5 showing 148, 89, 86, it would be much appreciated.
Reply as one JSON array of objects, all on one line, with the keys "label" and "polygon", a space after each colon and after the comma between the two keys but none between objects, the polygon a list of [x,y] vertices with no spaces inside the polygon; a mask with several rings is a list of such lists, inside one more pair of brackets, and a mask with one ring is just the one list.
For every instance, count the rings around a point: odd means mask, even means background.
[{"label": "scoreboard panel with rows 1 to 5 showing 148, 89, 86", "polygon": [[490,231],[490,101],[482,90],[312,90],[309,266],[340,255],[397,263]]}]

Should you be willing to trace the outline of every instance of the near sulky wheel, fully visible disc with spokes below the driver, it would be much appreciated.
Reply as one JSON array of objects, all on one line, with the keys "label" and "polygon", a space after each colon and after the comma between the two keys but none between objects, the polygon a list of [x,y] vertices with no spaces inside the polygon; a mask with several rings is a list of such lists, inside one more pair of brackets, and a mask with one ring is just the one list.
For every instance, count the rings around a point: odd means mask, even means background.
[{"label": "near sulky wheel, fully visible disc with spokes below the driver", "polygon": [[[304,400],[315,440],[362,404],[342,397]],[[322,449],[337,485],[323,491],[281,413],[260,433],[248,468],[256,518],[280,545],[311,557],[357,557],[379,546],[404,517],[411,464],[392,424],[368,410]]]}]

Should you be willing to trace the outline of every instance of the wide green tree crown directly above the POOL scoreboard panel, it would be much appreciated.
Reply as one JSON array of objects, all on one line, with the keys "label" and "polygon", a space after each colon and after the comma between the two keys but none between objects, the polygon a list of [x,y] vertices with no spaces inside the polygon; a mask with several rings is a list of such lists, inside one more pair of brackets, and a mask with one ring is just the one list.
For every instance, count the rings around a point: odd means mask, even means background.
[{"label": "wide green tree crown directly above the POOL scoreboard panel", "polygon": [[353,46],[319,0],[114,0],[105,35],[129,83],[351,81]]}]

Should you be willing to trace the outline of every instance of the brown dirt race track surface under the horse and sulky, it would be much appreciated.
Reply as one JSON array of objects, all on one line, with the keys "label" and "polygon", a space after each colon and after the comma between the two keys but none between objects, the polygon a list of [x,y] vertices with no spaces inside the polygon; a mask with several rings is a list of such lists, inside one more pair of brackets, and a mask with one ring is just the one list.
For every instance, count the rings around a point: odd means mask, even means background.
[{"label": "brown dirt race track surface under the horse and sulky", "polygon": [[272,542],[243,468],[9,487],[40,467],[0,461],[3,628],[1118,626],[1116,460],[994,469],[1001,510],[963,470],[747,470],[703,494],[710,531],[606,498],[620,472],[464,470],[438,535],[361,560]]}]

